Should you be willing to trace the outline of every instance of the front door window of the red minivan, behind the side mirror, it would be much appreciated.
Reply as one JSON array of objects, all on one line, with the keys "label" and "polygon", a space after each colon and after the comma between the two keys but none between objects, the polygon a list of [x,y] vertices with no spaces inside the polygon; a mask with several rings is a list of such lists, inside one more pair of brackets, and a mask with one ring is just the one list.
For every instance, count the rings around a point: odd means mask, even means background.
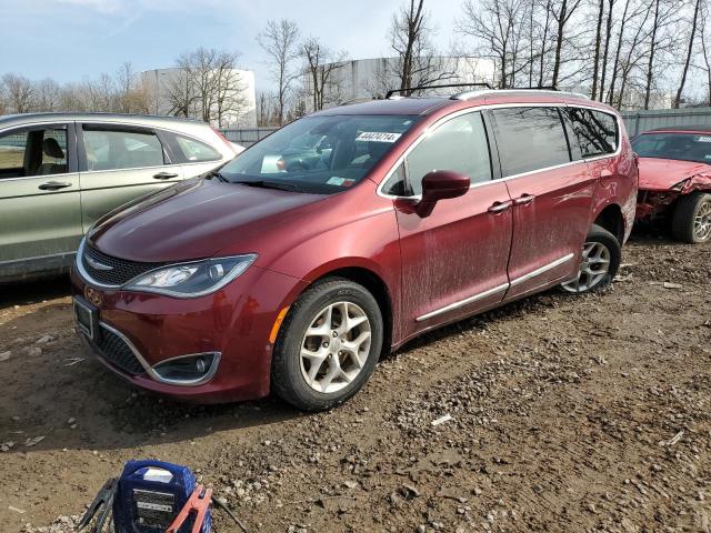
[{"label": "front door window of the red minivan, behind the side mirror", "polygon": [[468,175],[472,183],[491,180],[489,141],[481,113],[457,117],[434,130],[407,158],[410,192],[422,192],[422,178],[433,170]]}]

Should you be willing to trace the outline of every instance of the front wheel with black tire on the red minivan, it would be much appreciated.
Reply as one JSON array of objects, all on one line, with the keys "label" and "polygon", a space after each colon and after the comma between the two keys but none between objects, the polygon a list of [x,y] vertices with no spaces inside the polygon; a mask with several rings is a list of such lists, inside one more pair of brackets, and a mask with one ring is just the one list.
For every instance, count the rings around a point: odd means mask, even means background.
[{"label": "front wheel with black tire on the red minivan", "polygon": [[[342,321],[344,310],[349,324]],[[350,324],[358,325],[348,330]],[[352,281],[324,279],[304,291],[287,313],[274,344],[272,390],[304,411],[339,405],[373,373],[382,342],[383,320],[373,295]]]}]

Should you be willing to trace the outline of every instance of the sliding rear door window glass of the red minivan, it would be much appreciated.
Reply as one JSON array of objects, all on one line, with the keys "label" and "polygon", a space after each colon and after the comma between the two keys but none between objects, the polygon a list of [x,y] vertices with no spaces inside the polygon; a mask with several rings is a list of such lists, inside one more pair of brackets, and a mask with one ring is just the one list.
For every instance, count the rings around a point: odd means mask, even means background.
[{"label": "sliding rear door window glass of the red minivan", "polygon": [[568,139],[557,108],[493,111],[504,177],[570,162]]}]

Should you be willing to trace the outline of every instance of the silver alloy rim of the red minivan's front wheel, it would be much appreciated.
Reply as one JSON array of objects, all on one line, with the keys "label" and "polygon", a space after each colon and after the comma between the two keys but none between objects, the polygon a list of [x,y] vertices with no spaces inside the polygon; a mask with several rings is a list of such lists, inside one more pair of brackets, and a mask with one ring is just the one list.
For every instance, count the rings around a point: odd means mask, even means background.
[{"label": "silver alloy rim of the red minivan's front wheel", "polygon": [[337,302],[311,321],[301,343],[301,375],[321,393],[351,383],[370,354],[371,328],[365,312],[352,302]]}]

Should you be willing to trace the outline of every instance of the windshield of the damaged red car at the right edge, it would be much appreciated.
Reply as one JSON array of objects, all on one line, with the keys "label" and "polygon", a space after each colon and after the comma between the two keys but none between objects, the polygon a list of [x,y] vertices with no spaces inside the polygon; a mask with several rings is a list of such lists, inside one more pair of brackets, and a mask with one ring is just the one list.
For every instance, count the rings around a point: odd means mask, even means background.
[{"label": "windshield of the damaged red car at the right edge", "polygon": [[711,164],[711,133],[644,133],[632,141],[640,158]]}]

